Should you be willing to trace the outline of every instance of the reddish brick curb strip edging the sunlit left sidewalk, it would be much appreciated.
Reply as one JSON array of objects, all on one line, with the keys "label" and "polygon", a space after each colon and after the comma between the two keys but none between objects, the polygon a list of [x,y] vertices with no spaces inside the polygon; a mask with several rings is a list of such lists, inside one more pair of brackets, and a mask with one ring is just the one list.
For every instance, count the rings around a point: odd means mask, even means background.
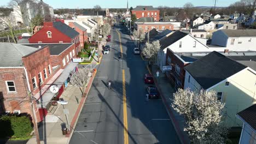
[{"label": "reddish brick curb strip edging the sunlit left sidewalk", "polygon": [[[88,93],[89,93],[89,91],[90,91],[90,88],[91,88],[92,82],[94,81],[94,77],[95,77],[96,73],[97,73],[97,69],[94,69],[94,73],[92,74],[92,77],[91,77],[91,79],[90,79],[90,81],[89,81],[89,83],[88,83],[88,86],[87,86],[86,89],[85,89],[85,92],[84,92],[84,94],[83,94],[83,97],[82,97],[82,99],[81,99],[81,101],[80,101],[80,103],[79,103],[79,106],[78,106],[78,108],[77,108],[77,111],[75,111],[75,115],[74,115],[74,117],[73,117],[73,119],[72,119],[72,122],[71,122],[71,124],[70,124],[70,127],[71,127],[71,128],[73,128],[74,125],[77,123],[78,117],[79,117],[79,115],[80,115],[80,113],[81,113],[81,111],[82,111],[83,105],[84,105],[84,103],[85,103],[85,101],[86,101],[86,99],[87,99],[87,95],[88,95]],[[68,141],[67,141],[68,143],[69,143],[69,141],[70,141],[70,139],[71,139],[71,136],[72,136],[73,132],[74,132],[73,129],[71,129],[71,131],[69,131],[69,133],[66,134],[66,137],[69,137],[69,139],[68,139]]]}]

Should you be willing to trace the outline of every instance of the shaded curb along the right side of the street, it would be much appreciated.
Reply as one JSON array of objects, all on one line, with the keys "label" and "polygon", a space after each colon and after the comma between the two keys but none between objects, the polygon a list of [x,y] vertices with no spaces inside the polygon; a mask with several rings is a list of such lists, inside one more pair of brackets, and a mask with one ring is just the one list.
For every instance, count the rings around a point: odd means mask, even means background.
[{"label": "shaded curb along the right side of the street", "polygon": [[175,119],[175,117],[174,117],[174,114],[173,114],[172,111],[171,111],[170,105],[167,104],[166,98],[163,96],[162,91],[161,91],[161,88],[158,86],[158,81],[157,81],[157,79],[155,78],[154,75],[153,75],[153,79],[154,79],[154,82],[155,82],[155,86],[158,88],[158,91],[159,91],[160,96],[161,96],[161,98],[162,98],[162,102],[163,102],[164,105],[165,105],[165,109],[167,110],[167,113],[168,113],[169,117],[171,118],[171,121],[172,121],[172,124],[173,124],[173,126],[174,126],[174,129],[175,129],[176,133],[178,134],[179,141],[180,141],[182,144],[188,143],[188,142],[184,139],[184,136],[183,136],[183,134],[182,134],[182,131],[181,131],[181,129],[179,128],[179,124],[178,124],[178,122],[176,121],[176,119]]}]

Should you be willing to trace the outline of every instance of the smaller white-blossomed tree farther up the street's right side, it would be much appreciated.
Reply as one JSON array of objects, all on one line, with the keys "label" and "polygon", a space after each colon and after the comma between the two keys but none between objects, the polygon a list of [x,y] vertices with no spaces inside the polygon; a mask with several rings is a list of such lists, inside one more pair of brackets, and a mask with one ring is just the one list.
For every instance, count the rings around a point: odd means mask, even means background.
[{"label": "smaller white-blossomed tree farther up the street's right side", "polygon": [[146,43],[146,46],[142,50],[142,55],[149,58],[150,62],[155,62],[158,57],[158,51],[160,50],[159,40],[153,41],[151,44]]}]

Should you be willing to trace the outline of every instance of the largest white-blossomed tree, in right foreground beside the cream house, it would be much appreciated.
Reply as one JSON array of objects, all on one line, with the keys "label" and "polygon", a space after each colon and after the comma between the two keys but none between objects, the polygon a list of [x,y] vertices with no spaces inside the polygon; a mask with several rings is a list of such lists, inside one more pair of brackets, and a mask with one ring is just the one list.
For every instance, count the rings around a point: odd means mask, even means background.
[{"label": "largest white-blossomed tree, in right foreground beside the cream house", "polygon": [[178,89],[173,94],[172,107],[184,116],[184,130],[192,143],[225,143],[228,128],[222,123],[224,105],[214,91],[195,93]]}]

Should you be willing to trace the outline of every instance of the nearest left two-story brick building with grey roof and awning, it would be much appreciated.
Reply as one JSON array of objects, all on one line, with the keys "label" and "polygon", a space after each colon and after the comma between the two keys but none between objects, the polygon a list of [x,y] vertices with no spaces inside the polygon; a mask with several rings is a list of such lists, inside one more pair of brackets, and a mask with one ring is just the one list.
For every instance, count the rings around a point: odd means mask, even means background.
[{"label": "nearest left two-story brick building with grey roof and awning", "polygon": [[[29,45],[29,44],[28,44]],[[42,121],[50,106],[49,100],[60,97],[65,82],[60,81],[56,95],[47,92],[62,76],[62,72],[75,64],[71,63],[76,53],[75,44],[31,44],[0,43],[0,112],[29,113],[31,96],[44,104],[35,108],[37,122]],[[13,54],[13,55],[12,55]],[[62,60],[61,60],[62,59]],[[63,59],[65,64],[63,64]],[[70,72],[70,69],[67,71]],[[68,75],[64,78],[67,79]],[[61,77],[63,80],[63,76]],[[48,95],[45,95],[48,94]],[[50,94],[50,95],[49,95]],[[45,103],[47,102],[48,103]]]}]

